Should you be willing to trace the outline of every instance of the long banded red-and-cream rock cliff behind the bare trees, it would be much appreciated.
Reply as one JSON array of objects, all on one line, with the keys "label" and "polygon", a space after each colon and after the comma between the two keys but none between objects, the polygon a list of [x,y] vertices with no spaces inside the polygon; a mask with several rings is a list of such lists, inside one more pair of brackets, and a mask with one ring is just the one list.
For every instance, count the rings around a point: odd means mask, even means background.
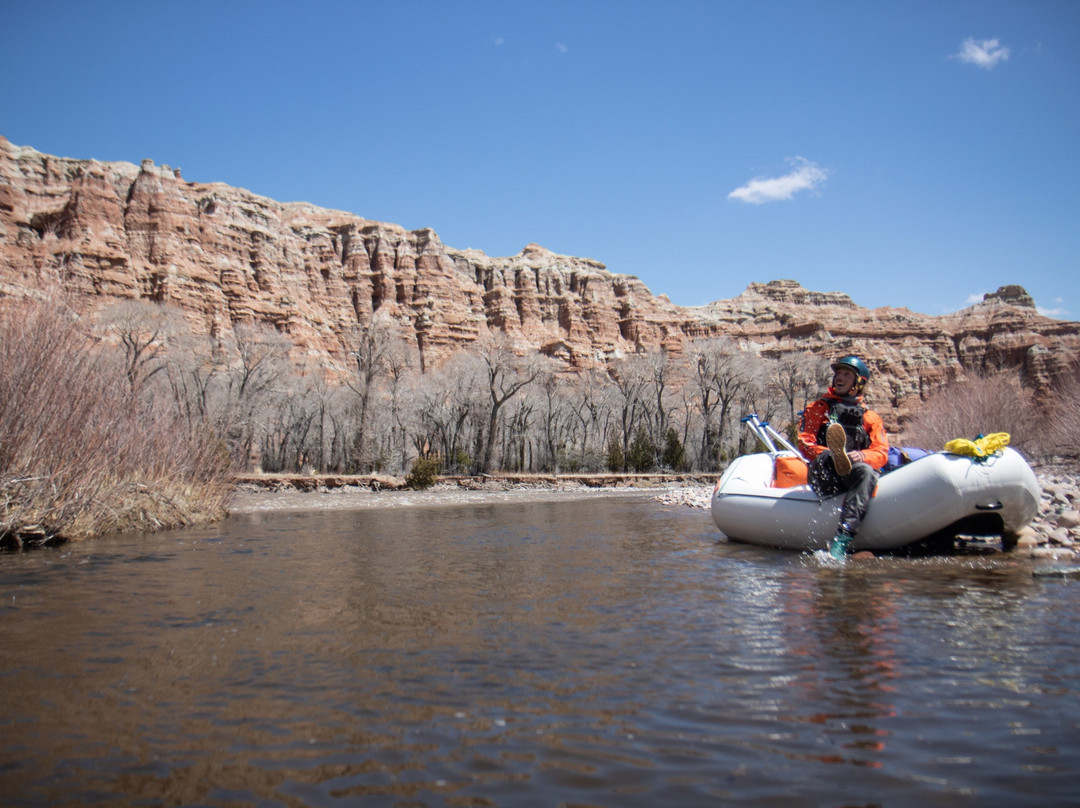
[{"label": "long banded red-and-cream rock cliff behind the bare trees", "polygon": [[429,365],[495,331],[568,368],[652,347],[678,353],[708,337],[766,355],[854,352],[876,372],[875,405],[893,417],[974,368],[1016,364],[1045,385],[1080,355],[1080,323],[1040,315],[1021,286],[944,315],[864,309],[785,280],[681,307],[637,278],[537,244],[494,258],[448,247],[430,229],[189,183],[150,160],[71,160],[0,137],[0,296],[56,288],[87,309],[166,302],[195,333],[270,323],[297,359],[338,365],[342,335],[375,311],[399,321]]}]

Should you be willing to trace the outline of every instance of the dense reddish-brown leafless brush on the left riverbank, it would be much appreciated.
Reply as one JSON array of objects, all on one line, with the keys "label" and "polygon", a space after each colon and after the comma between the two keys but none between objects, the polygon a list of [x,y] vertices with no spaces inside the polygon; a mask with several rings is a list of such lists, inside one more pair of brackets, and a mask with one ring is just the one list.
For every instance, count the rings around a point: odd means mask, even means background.
[{"label": "dense reddish-brown leafless brush on the left riverbank", "polygon": [[135,398],[55,302],[0,301],[0,543],[222,517],[227,453]]}]

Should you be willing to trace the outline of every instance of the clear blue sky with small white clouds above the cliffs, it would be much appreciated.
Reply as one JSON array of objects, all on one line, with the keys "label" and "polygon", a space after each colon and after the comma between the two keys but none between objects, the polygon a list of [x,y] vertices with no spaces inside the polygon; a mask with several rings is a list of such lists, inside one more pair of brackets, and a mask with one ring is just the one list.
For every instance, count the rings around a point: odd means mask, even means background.
[{"label": "clear blue sky with small white clouds above the cliffs", "polygon": [[537,242],[696,306],[795,279],[1080,320],[1080,2],[0,0],[0,134]]}]

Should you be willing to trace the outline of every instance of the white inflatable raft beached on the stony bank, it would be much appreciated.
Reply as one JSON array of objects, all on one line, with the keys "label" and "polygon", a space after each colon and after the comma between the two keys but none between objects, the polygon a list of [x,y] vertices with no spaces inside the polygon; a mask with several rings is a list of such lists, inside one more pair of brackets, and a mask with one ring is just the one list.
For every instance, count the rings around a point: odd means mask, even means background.
[{"label": "white inflatable raft beached on the stony bank", "polygon": [[[761,427],[779,437],[752,418],[755,432]],[[713,490],[713,522],[738,541],[826,550],[840,523],[843,496],[822,498],[805,484],[775,487],[778,458],[797,455],[789,444],[786,449],[771,441],[767,445],[773,450],[737,458],[724,472]],[[1035,472],[1014,449],[977,460],[927,455],[881,475],[851,549],[894,550],[954,527],[1010,536],[1038,513],[1039,496]]]}]

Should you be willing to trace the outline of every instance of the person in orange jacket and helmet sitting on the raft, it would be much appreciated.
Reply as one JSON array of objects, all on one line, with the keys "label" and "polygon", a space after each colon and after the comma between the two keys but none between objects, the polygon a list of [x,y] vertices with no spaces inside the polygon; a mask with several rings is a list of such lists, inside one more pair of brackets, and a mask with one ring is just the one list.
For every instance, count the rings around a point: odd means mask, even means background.
[{"label": "person in orange jacket and helmet sitting on the raft", "polygon": [[881,416],[863,405],[870,369],[858,356],[833,363],[828,391],[802,413],[798,446],[810,461],[807,482],[820,497],[843,494],[840,524],[828,552],[842,558],[866,515],[878,473],[889,459]]}]

